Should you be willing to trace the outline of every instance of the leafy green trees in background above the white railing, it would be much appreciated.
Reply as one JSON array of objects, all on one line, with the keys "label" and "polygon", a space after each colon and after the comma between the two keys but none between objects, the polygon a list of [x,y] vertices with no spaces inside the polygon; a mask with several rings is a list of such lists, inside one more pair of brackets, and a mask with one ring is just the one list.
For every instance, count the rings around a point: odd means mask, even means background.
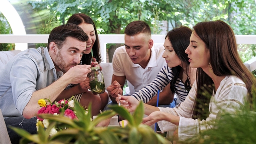
[{"label": "leafy green trees in background above the white railing", "polygon": [[[92,17],[100,34],[122,34],[125,26],[134,20],[144,20],[151,28],[159,27],[156,18],[160,24],[167,21],[168,30],[181,25],[192,28],[206,20],[223,20],[236,34],[256,34],[254,0],[41,0],[29,3],[33,9],[56,13],[59,24],[66,23],[74,13],[85,13]],[[118,46],[110,46],[110,62]]]}]

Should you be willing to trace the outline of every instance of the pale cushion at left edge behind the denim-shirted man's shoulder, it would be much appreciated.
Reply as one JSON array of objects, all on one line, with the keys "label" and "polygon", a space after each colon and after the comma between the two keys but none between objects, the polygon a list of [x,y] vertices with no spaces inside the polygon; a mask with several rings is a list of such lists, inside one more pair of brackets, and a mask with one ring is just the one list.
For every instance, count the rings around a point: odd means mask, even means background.
[{"label": "pale cushion at left edge behind the denim-shirted man's shoulder", "polygon": [[10,51],[1,51],[0,52],[0,69],[3,68],[4,65],[7,64],[7,62],[10,61],[10,59],[13,58],[16,54],[21,52],[20,50],[10,50]]}]

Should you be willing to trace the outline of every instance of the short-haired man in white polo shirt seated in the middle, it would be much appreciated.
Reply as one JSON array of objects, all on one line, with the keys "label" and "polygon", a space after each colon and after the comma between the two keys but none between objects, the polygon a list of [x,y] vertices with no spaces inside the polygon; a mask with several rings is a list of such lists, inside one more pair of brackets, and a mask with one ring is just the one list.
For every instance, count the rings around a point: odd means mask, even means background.
[{"label": "short-haired man in white polo shirt seated in the middle", "polygon": [[[107,91],[112,100],[123,94],[125,80],[128,82],[130,95],[148,85],[165,65],[162,58],[163,44],[154,44],[151,29],[144,21],[133,21],[125,28],[125,46],[115,50],[113,56],[112,85]],[[173,101],[170,84],[159,95],[158,105],[170,105]],[[147,104],[156,106],[157,97]]]}]

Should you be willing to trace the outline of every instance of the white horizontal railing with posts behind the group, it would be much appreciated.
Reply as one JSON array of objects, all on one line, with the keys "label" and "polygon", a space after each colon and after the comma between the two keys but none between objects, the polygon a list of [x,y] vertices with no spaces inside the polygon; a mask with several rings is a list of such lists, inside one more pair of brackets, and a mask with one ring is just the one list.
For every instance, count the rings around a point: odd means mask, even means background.
[{"label": "white horizontal railing with posts behind the group", "polygon": [[[99,34],[99,42],[101,48],[101,54],[103,61],[106,62],[107,43],[125,43],[123,34],[113,34],[113,35],[101,35]],[[37,34],[27,34],[27,35],[1,35],[0,43],[15,43],[16,50],[25,50],[28,48],[27,43],[47,43],[49,35],[37,35]],[[154,43],[164,43],[165,35],[152,35]],[[256,44],[256,35],[236,35],[237,44]],[[256,70],[256,57],[245,62],[250,65],[251,71]]]}]

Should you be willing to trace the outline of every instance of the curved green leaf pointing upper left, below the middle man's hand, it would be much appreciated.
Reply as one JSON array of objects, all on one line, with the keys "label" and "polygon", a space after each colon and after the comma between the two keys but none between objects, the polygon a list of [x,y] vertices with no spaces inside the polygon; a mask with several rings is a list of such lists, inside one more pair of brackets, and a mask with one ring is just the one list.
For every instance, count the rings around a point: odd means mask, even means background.
[{"label": "curved green leaf pointing upper left, below the middle man's hand", "polygon": [[127,111],[124,107],[120,107],[118,105],[109,105],[108,108],[112,109],[113,111],[117,112],[121,117],[125,118],[127,121],[129,121],[129,124],[132,126],[135,126],[134,119],[130,115],[130,112]]}]

